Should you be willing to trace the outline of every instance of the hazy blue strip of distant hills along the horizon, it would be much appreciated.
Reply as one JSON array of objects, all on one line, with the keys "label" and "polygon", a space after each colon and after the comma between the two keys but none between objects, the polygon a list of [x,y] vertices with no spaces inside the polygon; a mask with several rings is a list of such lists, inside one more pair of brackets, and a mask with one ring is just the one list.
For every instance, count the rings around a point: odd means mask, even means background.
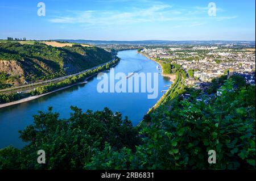
[{"label": "hazy blue strip of distant hills along the horizon", "polygon": [[103,41],[103,40],[65,40],[59,39],[55,41],[69,42],[69,43],[84,43],[84,44],[123,44],[123,45],[211,45],[211,44],[251,44],[255,45],[255,41],[169,41],[169,40],[142,40],[142,41]]}]

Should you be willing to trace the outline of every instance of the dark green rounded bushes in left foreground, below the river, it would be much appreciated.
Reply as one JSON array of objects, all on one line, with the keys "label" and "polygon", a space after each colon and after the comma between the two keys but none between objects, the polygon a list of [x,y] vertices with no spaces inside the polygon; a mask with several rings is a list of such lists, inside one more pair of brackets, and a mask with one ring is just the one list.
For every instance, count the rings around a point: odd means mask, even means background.
[{"label": "dark green rounded bushes in left foreground, below the river", "polygon": [[[139,138],[131,122],[108,108],[86,111],[71,107],[69,119],[59,119],[59,113],[39,112],[34,124],[20,132],[29,144],[18,150],[9,146],[0,152],[0,169],[82,169],[90,162],[95,150],[109,148],[135,149]],[[37,151],[46,151],[47,163],[37,163]],[[15,157],[15,159],[13,159]]]}]

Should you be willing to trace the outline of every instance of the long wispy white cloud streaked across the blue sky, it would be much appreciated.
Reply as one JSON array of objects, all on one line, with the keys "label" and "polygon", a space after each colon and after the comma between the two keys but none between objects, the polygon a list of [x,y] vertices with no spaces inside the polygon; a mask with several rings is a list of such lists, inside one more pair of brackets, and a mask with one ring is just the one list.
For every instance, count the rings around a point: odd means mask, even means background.
[{"label": "long wispy white cloud streaked across the blue sky", "polygon": [[[126,1],[126,0],[113,0]],[[141,0],[148,1],[148,0]],[[207,15],[208,7],[187,7],[176,8],[163,3],[156,3],[146,8],[133,7],[129,11],[75,11],[69,12],[69,16],[56,16],[48,19],[52,23],[79,24],[81,27],[101,27],[101,26],[127,26],[133,23],[153,23],[153,22],[188,22],[196,21],[195,26],[204,24],[209,20],[228,20],[237,16],[215,16]],[[219,11],[224,11],[218,9]],[[205,15],[204,15],[204,14]],[[202,15],[203,14],[203,15]]]}]

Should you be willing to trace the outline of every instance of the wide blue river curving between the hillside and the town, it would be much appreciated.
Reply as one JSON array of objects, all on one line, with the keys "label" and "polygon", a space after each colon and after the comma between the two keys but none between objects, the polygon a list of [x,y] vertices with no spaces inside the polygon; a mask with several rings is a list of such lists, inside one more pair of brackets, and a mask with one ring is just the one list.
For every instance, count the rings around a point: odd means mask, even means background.
[{"label": "wide blue river curving between the hillside and the town", "polygon": [[[102,110],[109,107],[112,111],[119,111],[123,116],[128,116],[133,125],[137,125],[154,104],[163,95],[162,90],[167,90],[170,81],[162,77],[158,64],[137,53],[137,50],[125,50],[118,53],[121,61],[114,67],[116,73],[158,73],[158,96],[148,99],[148,93],[99,93],[97,84],[101,81],[96,77],[90,78],[85,85],[77,85],[65,90],[53,92],[41,98],[0,108],[0,148],[13,145],[22,148],[24,143],[19,138],[19,130],[33,122],[32,115],[38,111],[47,111],[49,106],[53,111],[59,112],[61,118],[68,118],[72,112],[70,106],[77,106],[86,110]],[[109,75],[109,72],[107,72]],[[131,77],[129,77],[131,78]],[[118,81],[116,81],[118,82]],[[141,84],[141,81],[139,81]],[[153,86],[153,85],[152,85]],[[164,87],[165,86],[165,87]]]}]

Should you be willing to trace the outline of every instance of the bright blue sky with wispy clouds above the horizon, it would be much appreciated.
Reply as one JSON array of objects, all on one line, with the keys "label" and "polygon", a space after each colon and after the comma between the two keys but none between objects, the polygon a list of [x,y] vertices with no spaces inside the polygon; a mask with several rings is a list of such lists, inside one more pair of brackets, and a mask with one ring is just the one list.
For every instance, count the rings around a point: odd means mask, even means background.
[{"label": "bright blue sky with wispy clouds above the horizon", "polygon": [[255,1],[1,0],[0,22],[0,39],[255,40]]}]

